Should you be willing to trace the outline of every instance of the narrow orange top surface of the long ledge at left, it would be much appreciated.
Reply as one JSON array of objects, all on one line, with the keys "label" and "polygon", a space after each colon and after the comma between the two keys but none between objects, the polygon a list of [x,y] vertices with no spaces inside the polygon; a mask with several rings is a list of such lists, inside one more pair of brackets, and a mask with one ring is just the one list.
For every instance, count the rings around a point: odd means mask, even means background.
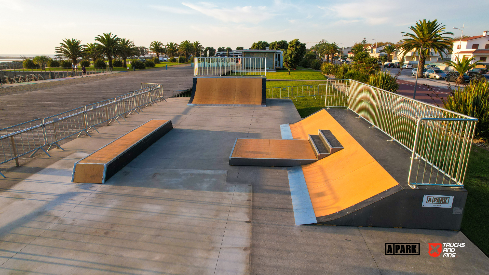
[{"label": "narrow orange top surface of the long ledge at left", "polygon": [[144,138],[158,127],[168,122],[168,120],[152,119],[137,129],[127,133],[126,135],[112,141],[107,146],[100,148],[87,158],[83,159],[83,163],[108,163],[122,152],[126,151],[134,143],[141,138]]}]

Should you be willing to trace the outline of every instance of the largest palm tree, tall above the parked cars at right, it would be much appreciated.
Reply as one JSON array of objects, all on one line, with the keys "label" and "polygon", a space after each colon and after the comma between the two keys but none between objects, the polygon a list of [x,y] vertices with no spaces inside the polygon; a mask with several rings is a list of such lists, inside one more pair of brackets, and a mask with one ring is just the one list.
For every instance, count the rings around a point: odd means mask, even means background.
[{"label": "largest palm tree, tall above the parked cars at right", "polygon": [[[442,26],[442,23],[438,23],[436,19],[433,22],[426,21],[426,19],[420,20],[416,22],[415,26],[410,26],[409,29],[414,33],[401,32],[404,34],[403,36],[409,38],[400,40],[403,44],[399,46],[399,49],[404,52],[404,55],[409,51],[418,51],[420,55],[418,68],[424,68],[426,55],[429,55],[432,50],[435,53],[440,53],[440,57],[443,58],[443,53],[452,49],[451,38],[443,35],[453,35],[453,33],[445,32],[445,25]],[[423,77],[422,69],[418,69],[418,77]]]}]

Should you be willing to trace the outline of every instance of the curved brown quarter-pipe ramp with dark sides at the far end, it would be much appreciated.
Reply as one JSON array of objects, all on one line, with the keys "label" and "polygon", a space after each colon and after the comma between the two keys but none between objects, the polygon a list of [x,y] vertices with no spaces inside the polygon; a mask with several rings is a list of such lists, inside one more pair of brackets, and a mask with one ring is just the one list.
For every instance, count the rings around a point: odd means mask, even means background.
[{"label": "curved brown quarter-pipe ramp with dark sides at the far end", "polygon": [[266,78],[194,77],[190,106],[266,106]]}]

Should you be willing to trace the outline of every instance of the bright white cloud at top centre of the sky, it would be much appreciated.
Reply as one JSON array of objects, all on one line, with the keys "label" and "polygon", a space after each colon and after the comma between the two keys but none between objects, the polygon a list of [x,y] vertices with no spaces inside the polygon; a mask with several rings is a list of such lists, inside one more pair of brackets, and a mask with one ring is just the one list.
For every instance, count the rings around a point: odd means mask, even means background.
[{"label": "bright white cloud at top centre of the sky", "polygon": [[275,16],[275,14],[270,12],[266,6],[236,6],[228,8],[218,7],[212,3],[206,2],[201,2],[199,5],[192,3],[182,4],[204,15],[221,20],[222,22],[258,23]]}]

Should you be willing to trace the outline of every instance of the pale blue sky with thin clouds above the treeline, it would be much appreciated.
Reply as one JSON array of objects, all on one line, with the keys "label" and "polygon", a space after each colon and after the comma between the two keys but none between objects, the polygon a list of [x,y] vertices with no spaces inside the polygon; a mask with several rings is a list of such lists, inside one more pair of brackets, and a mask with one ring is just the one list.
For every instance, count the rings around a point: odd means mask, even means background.
[{"label": "pale blue sky with thin clouds above the treeline", "polygon": [[[463,5],[461,3],[463,2]],[[416,21],[438,19],[447,31],[482,35],[489,29],[487,0],[247,0],[97,1],[0,0],[0,56],[54,55],[63,39],[83,44],[111,32],[149,46],[152,41],[199,41],[204,47],[249,48],[253,42],[298,38],[308,48],[326,39],[352,46],[398,42]]]}]

